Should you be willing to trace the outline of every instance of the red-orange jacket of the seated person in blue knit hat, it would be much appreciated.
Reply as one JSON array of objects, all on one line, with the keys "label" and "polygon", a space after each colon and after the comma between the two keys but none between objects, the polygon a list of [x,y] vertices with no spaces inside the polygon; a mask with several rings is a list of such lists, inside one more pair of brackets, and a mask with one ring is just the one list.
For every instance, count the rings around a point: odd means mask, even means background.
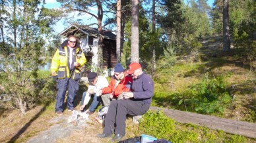
[{"label": "red-orange jacket of the seated person in blue knit hat", "polygon": [[115,75],[114,75],[108,87],[105,87],[104,89],[102,89],[102,94],[112,93],[113,96],[118,98],[119,94],[122,94],[123,92],[131,91],[131,86],[133,84],[133,77],[131,77],[131,75],[127,75],[126,71],[124,72],[123,79],[121,79],[121,81],[115,87],[116,80],[117,79],[115,78]]}]

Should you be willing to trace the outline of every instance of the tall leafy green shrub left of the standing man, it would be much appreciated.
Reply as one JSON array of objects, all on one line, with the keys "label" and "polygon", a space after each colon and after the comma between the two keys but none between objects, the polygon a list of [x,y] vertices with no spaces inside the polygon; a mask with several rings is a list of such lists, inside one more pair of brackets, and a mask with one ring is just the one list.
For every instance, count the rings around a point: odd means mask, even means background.
[{"label": "tall leafy green shrub left of the standing man", "polygon": [[2,5],[9,18],[4,19],[5,31],[1,32],[5,43],[0,45],[0,51],[5,51],[6,45],[9,51],[1,53],[0,78],[5,81],[3,89],[11,97],[11,105],[23,114],[42,96],[48,96],[46,92],[40,94],[48,83],[38,78],[38,66],[43,65],[40,49],[46,44],[43,37],[51,32],[51,24],[59,20],[59,12],[40,7],[42,4],[33,0],[5,1]]}]

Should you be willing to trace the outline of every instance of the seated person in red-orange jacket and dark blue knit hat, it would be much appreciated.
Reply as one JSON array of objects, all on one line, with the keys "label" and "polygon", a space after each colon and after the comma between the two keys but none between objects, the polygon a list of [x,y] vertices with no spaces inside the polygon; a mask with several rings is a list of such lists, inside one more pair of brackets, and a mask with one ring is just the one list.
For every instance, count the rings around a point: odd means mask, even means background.
[{"label": "seated person in red-orange jacket and dark blue knit hat", "polygon": [[100,90],[104,106],[109,106],[111,100],[121,99],[123,92],[131,91],[133,77],[128,75],[120,63],[115,65],[114,75],[108,87]]}]

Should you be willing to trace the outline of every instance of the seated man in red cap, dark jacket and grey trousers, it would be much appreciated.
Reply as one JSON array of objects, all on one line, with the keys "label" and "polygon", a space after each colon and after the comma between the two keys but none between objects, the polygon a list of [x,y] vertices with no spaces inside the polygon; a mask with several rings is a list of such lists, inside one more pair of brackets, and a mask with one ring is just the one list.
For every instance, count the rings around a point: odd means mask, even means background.
[{"label": "seated man in red cap, dark jacket and grey trousers", "polygon": [[154,83],[149,75],[142,71],[141,65],[133,62],[129,66],[129,72],[133,76],[132,92],[123,92],[123,100],[114,100],[110,103],[105,119],[105,127],[102,134],[96,136],[112,138],[112,142],[118,142],[125,136],[126,115],[143,115],[146,113],[154,95]]}]

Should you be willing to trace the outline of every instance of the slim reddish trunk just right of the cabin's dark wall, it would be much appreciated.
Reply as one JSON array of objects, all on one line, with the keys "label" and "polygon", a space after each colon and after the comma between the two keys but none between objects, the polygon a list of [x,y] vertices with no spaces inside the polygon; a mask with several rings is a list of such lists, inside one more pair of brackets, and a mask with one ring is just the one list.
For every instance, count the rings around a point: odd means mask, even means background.
[{"label": "slim reddish trunk just right of the cabin's dark wall", "polygon": [[121,0],[117,0],[117,35],[116,35],[116,58],[120,62],[121,58]]}]

